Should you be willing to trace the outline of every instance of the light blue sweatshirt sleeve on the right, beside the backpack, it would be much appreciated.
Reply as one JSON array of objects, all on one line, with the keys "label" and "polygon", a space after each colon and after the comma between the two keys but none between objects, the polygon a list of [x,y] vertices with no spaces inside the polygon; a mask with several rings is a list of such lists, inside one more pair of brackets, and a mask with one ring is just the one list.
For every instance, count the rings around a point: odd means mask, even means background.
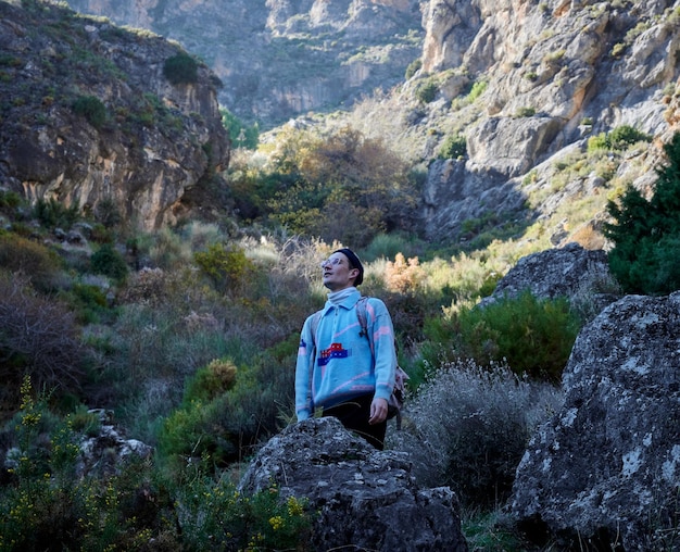
[{"label": "light blue sweatshirt sleeve on the right, beside the backpack", "polygon": [[373,347],[376,371],[377,399],[389,400],[394,388],[396,351],[394,350],[394,328],[385,303],[376,298],[368,301],[367,314],[372,321]]}]

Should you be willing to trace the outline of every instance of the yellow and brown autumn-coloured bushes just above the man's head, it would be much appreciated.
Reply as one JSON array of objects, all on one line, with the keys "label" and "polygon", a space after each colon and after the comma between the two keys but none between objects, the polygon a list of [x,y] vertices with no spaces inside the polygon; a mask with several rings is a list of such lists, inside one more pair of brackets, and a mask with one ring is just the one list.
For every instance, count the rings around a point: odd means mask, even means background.
[{"label": "yellow and brown autumn-coloured bushes just above the man's head", "polygon": [[379,233],[417,224],[407,167],[379,139],[347,127],[325,139],[291,129],[279,151],[284,189],[267,209],[289,231],[361,248]]}]

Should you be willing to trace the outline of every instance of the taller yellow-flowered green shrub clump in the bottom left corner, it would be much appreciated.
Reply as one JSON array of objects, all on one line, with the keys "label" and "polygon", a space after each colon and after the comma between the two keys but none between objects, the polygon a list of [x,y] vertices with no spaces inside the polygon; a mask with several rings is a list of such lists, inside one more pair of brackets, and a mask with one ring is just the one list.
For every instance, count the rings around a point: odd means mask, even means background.
[{"label": "taller yellow-flowered green shrub clump in the bottom left corner", "polygon": [[[83,411],[55,416],[48,400],[34,398],[25,380],[22,409],[4,432],[17,454],[0,487],[0,550],[142,550],[167,541],[172,504],[151,484],[150,464],[133,454],[115,476],[77,475],[78,443],[96,424]],[[177,539],[167,545],[181,549]]]}]

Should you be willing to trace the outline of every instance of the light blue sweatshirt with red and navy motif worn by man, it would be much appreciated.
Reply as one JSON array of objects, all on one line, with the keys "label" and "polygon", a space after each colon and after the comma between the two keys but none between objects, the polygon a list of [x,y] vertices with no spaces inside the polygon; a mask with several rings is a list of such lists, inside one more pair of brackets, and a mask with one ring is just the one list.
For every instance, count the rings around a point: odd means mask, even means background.
[{"label": "light blue sweatshirt with red and navy motif worn by man", "polygon": [[356,316],[360,291],[350,288],[337,294],[333,298],[330,293],[322,310],[316,347],[312,336],[314,315],[302,327],[295,366],[298,421],[311,417],[318,406],[329,407],[369,393],[385,400],[392,394],[396,353],[387,306],[377,298],[366,301],[366,324],[374,343],[372,353],[370,341],[360,335],[362,327]]}]

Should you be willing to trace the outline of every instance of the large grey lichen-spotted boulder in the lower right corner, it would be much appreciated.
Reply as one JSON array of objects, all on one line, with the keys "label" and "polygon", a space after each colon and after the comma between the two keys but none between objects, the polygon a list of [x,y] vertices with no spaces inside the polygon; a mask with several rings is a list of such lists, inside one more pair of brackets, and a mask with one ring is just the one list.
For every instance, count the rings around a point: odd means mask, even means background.
[{"label": "large grey lichen-spotted boulder in the lower right corner", "polygon": [[511,510],[576,547],[675,550],[680,488],[680,292],[628,296],[579,335],[563,409],[517,468]]}]

